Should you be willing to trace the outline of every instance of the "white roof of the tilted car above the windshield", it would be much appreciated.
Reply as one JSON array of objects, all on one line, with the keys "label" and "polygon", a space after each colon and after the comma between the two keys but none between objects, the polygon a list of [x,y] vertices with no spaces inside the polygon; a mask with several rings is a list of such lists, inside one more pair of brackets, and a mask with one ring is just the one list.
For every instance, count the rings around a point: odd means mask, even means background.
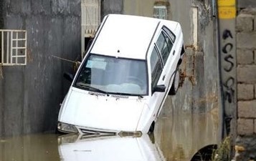
[{"label": "white roof of the tilted car above the windshield", "polygon": [[95,36],[91,53],[146,59],[148,46],[158,24],[174,31],[178,23],[144,16],[109,14],[105,16],[103,26]]}]

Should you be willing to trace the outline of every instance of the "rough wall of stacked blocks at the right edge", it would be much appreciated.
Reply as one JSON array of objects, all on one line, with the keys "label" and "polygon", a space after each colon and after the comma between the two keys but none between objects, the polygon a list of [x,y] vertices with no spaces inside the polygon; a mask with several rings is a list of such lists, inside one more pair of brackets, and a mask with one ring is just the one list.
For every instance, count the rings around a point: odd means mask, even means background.
[{"label": "rough wall of stacked blocks at the right edge", "polygon": [[256,160],[256,8],[237,16],[237,160]]}]

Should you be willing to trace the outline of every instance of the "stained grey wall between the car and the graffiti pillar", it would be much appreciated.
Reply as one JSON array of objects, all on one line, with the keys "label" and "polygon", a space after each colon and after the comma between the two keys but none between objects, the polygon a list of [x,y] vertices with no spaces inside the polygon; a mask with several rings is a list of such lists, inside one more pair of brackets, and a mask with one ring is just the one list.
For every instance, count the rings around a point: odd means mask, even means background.
[{"label": "stained grey wall between the car and the graffiti pillar", "polygon": [[216,19],[207,2],[169,1],[171,20],[180,22],[186,47],[181,67],[184,82],[176,96],[168,98],[171,111],[204,113],[218,107]]}]

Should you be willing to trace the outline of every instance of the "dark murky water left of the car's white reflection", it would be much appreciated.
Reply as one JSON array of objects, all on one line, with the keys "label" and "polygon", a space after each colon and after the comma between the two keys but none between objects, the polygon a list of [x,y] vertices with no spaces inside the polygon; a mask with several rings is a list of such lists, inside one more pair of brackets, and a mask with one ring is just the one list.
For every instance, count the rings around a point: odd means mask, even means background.
[{"label": "dark murky water left of the car's white reflection", "polygon": [[0,161],[58,161],[57,135],[0,138]]}]

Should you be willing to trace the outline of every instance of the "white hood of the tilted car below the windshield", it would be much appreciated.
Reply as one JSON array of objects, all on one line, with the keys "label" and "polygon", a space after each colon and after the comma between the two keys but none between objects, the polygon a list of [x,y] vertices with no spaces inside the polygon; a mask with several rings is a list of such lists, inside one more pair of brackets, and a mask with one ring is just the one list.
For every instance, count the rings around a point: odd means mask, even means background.
[{"label": "white hood of the tilted car below the windshield", "polygon": [[60,122],[113,131],[136,131],[144,101],[89,93],[72,87],[63,102]]}]

